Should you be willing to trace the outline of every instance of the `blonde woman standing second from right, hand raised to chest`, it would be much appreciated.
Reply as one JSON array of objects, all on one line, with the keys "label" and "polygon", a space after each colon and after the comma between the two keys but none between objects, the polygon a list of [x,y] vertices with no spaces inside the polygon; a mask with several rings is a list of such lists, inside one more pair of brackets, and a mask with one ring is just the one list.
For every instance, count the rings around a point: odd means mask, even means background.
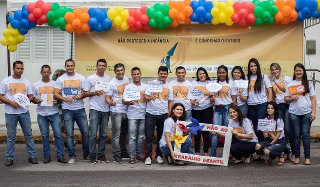
[{"label": "blonde woman standing second from right, hand raised to chest", "polygon": [[[285,158],[289,157],[292,146],[292,129],[289,123],[289,104],[284,102],[285,87],[292,81],[288,76],[282,74],[281,67],[278,63],[272,63],[270,65],[270,82],[272,85],[273,95],[279,108],[279,117],[284,121],[284,139],[285,139]],[[290,143],[290,145],[289,145]],[[292,154],[293,161],[295,160],[294,154]]]}]

